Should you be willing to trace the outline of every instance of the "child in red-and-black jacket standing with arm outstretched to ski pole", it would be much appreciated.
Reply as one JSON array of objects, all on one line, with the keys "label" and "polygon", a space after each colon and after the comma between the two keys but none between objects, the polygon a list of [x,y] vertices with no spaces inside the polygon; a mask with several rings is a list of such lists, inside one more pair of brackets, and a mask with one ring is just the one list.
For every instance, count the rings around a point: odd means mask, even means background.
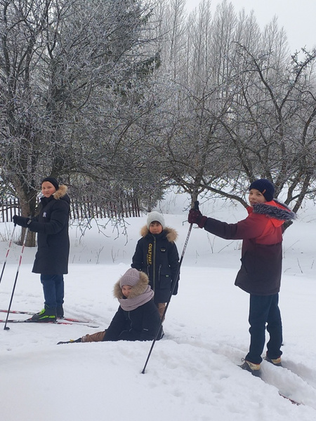
[{"label": "child in red-and-black jacket standing with arm outstretched to ski pole", "polygon": [[275,188],[262,178],[249,186],[248,217],[228,224],[203,216],[191,209],[188,221],[223,239],[242,239],[242,267],[235,285],[250,294],[249,353],[242,368],[260,375],[261,354],[265,345],[265,324],[270,335],[265,359],[281,366],[282,321],[279,312],[279,287],[282,273],[282,225],[295,214],[273,199]]}]

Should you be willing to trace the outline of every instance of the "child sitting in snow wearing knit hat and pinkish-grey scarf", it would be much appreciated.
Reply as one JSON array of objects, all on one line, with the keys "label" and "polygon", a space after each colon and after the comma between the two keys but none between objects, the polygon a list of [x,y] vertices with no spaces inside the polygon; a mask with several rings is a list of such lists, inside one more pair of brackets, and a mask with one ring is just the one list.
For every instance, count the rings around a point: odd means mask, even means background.
[{"label": "child sitting in snow wearing knit hat and pinkish-grey scarf", "polygon": [[[137,269],[129,269],[114,285],[114,297],[119,309],[110,326],[103,332],[84,335],[77,340],[58,342],[100,342],[117,340],[154,340],[161,321],[154,305],[154,291],[148,285],[148,277]],[[161,338],[160,332],[157,337]]]}]

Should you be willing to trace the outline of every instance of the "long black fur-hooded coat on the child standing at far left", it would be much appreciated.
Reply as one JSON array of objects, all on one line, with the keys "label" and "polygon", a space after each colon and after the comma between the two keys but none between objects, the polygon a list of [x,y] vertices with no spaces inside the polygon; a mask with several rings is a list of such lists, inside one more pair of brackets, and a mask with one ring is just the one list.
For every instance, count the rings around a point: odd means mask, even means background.
[{"label": "long black fur-hooded coat on the child standing at far left", "polygon": [[27,225],[30,231],[37,232],[38,248],[32,272],[44,275],[68,273],[69,215],[67,186],[60,185],[50,197],[41,197],[39,215]]}]

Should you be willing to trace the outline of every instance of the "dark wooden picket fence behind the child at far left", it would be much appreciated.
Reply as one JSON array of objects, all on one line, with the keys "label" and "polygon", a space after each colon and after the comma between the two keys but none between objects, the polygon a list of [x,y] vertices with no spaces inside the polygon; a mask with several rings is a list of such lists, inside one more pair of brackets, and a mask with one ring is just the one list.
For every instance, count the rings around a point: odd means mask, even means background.
[{"label": "dark wooden picket fence behind the child at far left", "polygon": [[[21,210],[18,199],[8,199],[0,203],[0,222],[11,222],[13,215],[20,215]],[[138,199],[124,198],[119,201],[108,201],[102,206],[93,203],[91,199],[82,198],[80,201],[71,200],[70,219],[82,220],[85,218],[130,218],[139,217],[140,208]]]}]

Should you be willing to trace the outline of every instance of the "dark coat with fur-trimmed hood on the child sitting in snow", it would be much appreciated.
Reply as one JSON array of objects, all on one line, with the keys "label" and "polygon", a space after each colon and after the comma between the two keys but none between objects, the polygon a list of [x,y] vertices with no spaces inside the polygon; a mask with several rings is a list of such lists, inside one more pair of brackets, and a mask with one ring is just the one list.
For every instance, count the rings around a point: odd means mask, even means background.
[{"label": "dark coat with fur-trimmed hood on the child sitting in snow", "polygon": [[[142,291],[145,285],[148,285],[148,278],[140,272],[140,281],[133,286],[134,296],[138,295],[138,290]],[[119,281],[114,286],[114,297],[123,298]],[[103,340],[154,340],[160,324],[159,312],[152,299],[129,312],[119,306]]]}]

